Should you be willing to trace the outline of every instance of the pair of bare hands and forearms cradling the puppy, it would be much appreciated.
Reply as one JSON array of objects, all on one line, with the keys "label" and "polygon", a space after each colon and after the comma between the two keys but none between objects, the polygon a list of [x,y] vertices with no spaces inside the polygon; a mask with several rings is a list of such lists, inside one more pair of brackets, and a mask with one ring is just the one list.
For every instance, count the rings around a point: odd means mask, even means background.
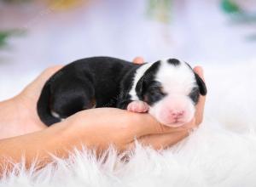
[{"label": "pair of bare hands and forearms cradling the puppy", "polygon": [[[134,63],[143,63],[143,59],[136,58]],[[52,160],[49,153],[66,158],[69,151],[74,147],[81,149],[82,145],[101,153],[110,144],[119,151],[132,149],[137,140],[156,150],[165,149],[184,139],[202,122],[204,96],[196,105],[195,117],[182,127],[166,127],[147,113],[115,108],[80,111],[46,127],[38,117],[37,101],[44,83],[61,67],[48,68],[20,94],[0,103],[0,173],[6,163],[3,158],[19,162],[25,156],[27,167],[37,158],[42,167]],[[200,66],[194,70],[203,78]]]}]

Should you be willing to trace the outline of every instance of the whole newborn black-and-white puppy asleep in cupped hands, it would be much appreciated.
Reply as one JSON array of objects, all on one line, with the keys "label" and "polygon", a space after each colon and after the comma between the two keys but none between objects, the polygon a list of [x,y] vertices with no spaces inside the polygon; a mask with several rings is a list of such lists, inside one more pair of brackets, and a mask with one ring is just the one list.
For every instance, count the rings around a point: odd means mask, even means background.
[{"label": "whole newborn black-and-white puppy asleep in cupped hands", "polygon": [[195,115],[207,88],[192,68],[177,59],[142,65],[110,57],[79,59],[45,83],[38,116],[46,125],[78,111],[115,107],[148,112],[167,126],[178,127]]}]

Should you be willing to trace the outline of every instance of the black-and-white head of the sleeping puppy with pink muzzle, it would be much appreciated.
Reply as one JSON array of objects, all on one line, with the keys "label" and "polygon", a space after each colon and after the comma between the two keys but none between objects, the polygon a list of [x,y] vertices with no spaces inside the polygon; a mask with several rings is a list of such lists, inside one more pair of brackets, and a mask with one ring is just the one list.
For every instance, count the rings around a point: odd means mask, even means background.
[{"label": "black-and-white head of the sleeping puppy with pink muzzle", "polygon": [[136,92],[159,122],[178,127],[193,118],[200,94],[206,95],[207,88],[187,63],[166,59],[154,62],[145,71]]}]

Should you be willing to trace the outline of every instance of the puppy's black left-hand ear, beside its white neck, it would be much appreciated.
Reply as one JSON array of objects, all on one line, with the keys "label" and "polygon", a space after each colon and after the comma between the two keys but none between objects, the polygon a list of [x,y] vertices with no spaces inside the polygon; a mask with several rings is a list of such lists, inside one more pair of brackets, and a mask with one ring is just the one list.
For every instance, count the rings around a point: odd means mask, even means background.
[{"label": "puppy's black left-hand ear, beside its white neck", "polygon": [[150,85],[150,82],[154,81],[154,77],[156,72],[158,71],[160,66],[160,61],[154,62],[147,71],[145,71],[144,75],[139,79],[136,85],[136,93],[139,99],[144,99],[144,94]]}]

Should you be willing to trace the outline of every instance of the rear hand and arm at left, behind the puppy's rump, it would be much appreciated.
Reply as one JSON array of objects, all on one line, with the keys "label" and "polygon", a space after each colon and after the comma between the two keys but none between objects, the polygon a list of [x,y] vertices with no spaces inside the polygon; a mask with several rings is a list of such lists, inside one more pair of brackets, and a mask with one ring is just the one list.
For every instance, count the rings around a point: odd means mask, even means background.
[{"label": "rear hand and arm at left, behind the puppy's rump", "polygon": [[20,94],[0,103],[0,139],[32,133],[46,127],[38,117],[37,102],[44,83],[59,69],[61,65],[46,69]]}]

